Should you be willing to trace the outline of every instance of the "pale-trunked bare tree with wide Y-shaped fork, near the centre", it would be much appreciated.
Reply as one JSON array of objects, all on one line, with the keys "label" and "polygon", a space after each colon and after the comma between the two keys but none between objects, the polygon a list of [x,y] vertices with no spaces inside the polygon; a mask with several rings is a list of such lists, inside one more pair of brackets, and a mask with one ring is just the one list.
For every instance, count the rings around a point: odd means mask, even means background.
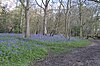
[{"label": "pale-trunked bare tree with wide Y-shaped fork, near the centre", "polygon": [[42,0],[42,4],[43,6],[41,6],[37,0],[36,1],[36,4],[43,9],[44,11],[44,19],[43,19],[43,35],[46,35],[47,34],[47,9],[48,9],[48,5],[49,5],[49,2],[50,0],[45,0],[45,2]]}]

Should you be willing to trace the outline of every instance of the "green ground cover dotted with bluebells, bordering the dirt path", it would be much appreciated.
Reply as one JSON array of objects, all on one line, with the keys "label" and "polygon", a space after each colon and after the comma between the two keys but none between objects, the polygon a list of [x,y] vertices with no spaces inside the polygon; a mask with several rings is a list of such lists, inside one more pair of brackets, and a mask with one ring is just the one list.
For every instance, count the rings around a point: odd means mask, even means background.
[{"label": "green ground cover dotted with bluebells, bordering the dirt path", "polygon": [[0,43],[0,66],[28,66],[28,64],[37,59],[45,57],[49,51],[61,53],[71,51],[74,47],[82,47],[90,44],[87,40],[71,42],[48,42],[31,39],[16,38],[16,41],[10,40],[10,37],[0,38],[4,42]]}]

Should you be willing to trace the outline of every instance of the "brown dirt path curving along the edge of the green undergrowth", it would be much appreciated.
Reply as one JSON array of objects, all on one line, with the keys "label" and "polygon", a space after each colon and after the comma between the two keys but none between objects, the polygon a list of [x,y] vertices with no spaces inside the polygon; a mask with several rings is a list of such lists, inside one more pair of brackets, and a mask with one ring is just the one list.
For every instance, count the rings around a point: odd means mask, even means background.
[{"label": "brown dirt path curving along the edge of the green undergrowth", "polygon": [[100,41],[92,42],[92,45],[78,48],[69,54],[49,56],[37,61],[35,66],[100,66]]}]

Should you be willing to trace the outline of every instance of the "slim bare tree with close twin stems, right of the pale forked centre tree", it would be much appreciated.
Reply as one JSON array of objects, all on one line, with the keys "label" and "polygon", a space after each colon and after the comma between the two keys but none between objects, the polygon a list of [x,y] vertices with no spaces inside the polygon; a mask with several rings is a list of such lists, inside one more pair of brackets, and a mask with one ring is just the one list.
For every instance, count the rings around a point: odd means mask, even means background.
[{"label": "slim bare tree with close twin stems, right of the pale forked centre tree", "polygon": [[59,0],[60,4],[63,6],[65,15],[65,37],[69,37],[70,34],[70,10],[71,10],[71,0],[68,0],[66,6],[63,4],[63,0]]}]

